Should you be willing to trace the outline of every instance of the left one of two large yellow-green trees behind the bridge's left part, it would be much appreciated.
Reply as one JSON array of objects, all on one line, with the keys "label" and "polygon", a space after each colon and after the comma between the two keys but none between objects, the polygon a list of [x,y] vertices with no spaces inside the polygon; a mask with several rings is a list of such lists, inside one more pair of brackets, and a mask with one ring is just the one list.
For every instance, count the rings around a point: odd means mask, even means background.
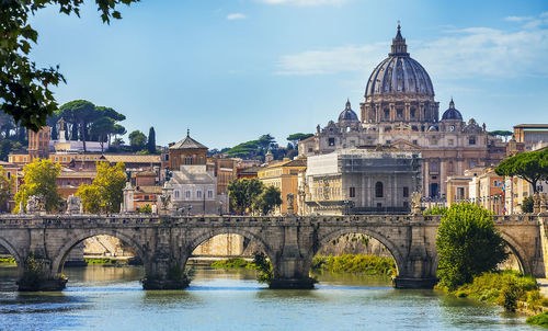
[{"label": "left one of two large yellow-green trees behind the bridge's left part", "polygon": [[32,195],[44,198],[47,212],[52,212],[59,205],[60,195],[57,193],[57,176],[61,172],[61,166],[54,163],[49,159],[36,159],[23,168],[24,183],[15,194],[15,208],[13,213],[19,213],[20,203],[26,209],[26,203]]}]

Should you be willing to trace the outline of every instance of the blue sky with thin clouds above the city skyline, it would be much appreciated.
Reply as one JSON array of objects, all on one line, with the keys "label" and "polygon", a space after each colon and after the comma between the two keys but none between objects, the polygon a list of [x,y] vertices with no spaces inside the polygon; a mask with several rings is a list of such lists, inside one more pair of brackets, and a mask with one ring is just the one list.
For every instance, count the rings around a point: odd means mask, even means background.
[{"label": "blue sky with thin clouds above the city skyline", "polygon": [[[346,99],[358,113],[398,21],[443,114],[450,98],[488,130],[548,123],[548,1],[141,0],[103,24],[36,13],[32,58],[60,66],[59,104],[89,100],[127,116],[128,132],[209,148],[313,133]],[[127,141],[127,139],[126,139]]]}]

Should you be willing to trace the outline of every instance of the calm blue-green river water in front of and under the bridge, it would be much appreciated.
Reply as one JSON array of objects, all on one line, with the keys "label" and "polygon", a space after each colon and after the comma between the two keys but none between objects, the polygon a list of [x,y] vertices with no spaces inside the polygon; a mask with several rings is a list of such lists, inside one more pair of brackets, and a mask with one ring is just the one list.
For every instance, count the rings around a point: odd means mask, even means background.
[{"label": "calm blue-green river water in front of and under the bridge", "polygon": [[[535,330],[525,317],[384,277],[324,274],[313,290],[270,290],[252,271],[197,270],[185,290],[146,292],[142,267],[66,269],[62,293],[14,292],[0,267],[0,330]],[[538,329],[540,330],[540,329]]]}]

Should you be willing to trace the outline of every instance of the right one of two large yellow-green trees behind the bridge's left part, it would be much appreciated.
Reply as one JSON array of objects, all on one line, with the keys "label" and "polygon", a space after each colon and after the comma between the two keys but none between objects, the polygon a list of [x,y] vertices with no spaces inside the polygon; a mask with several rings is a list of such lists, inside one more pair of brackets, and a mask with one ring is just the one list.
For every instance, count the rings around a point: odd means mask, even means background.
[{"label": "right one of two large yellow-green trees behind the bridge's left part", "polygon": [[91,185],[80,185],[77,195],[82,198],[87,213],[118,213],[126,183],[125,166],[122,162],[115,166],[98,162],[96,169],[98,174]]}]

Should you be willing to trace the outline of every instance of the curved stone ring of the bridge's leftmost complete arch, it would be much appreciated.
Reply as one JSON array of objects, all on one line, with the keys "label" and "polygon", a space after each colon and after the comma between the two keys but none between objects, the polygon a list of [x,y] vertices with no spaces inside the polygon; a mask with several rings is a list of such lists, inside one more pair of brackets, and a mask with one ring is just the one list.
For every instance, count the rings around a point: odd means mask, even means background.
[{"label": "curved stone ring of the bridge's leftmost complete arch", "polygon": [[71,237],[69,241],[65,242],[57,253],[54,255],[52,263],[52,271],[54,273],[61,273],[62,267],[65,265],[65,261],[67,260],[70,251],[83,240],[95,237],[95,236],[111,236],[117,238],[125,243],[129,244],[132,249],[139,255],[145,265],[146,273],[148,274],[150,269],[149,255],[147,254],[142,244],[136,241],[133,237],[127,236],[126,233],[118,231],[117,229],[87,229],[85,231],[78,231],[76,236]]}]

